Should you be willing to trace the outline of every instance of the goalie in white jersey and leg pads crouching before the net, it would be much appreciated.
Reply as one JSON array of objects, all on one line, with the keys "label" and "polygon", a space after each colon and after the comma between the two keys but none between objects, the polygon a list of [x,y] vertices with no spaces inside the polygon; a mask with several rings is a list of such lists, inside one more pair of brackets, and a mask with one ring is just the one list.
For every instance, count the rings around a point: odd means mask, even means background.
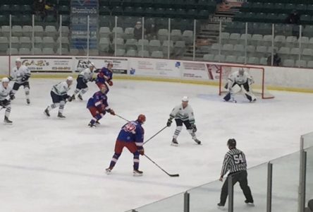
[{"label": "goalie in white jersey and leg pads crouching before the net", "polygon": [[228,93],[223,98],[226,102],[231,100],[232,102],[236,102],[233,98],[235,93],[243,92],[245,97],[250,102],[255,102],[257,98],[255,98],[254,94],[251,92],[250,85],[254,83],[252,76],[247,73],[243,68],[239,69],[239,71],[235,71],[228,76],[228,82],[226,84],[226,89],[228,89]]}]

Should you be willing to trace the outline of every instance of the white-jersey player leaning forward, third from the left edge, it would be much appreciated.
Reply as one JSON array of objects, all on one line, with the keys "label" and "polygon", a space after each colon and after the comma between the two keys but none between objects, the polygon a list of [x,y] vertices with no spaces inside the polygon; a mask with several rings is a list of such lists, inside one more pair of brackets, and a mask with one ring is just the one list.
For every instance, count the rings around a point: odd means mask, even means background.
[{"label": "white-jersey player leaning forward, third from the left edge", "polygon": [[66,81],[58,83],[52,87],[50,94],[53,104],[51,104],[46,108],[46,110],[44,110],[44,114],[46,114],[47,117],[50,116],[50,110],[59,107],[58,117],[62,119],[65,118],[65,116],[63,116],[63,109],[66,104],[66,100],[70,98],[70,96],[68,95],[68,90],[70,90],[70,85],[72,85],[72,83],[73,77],[68,76],[68,78],[66,78]]}]

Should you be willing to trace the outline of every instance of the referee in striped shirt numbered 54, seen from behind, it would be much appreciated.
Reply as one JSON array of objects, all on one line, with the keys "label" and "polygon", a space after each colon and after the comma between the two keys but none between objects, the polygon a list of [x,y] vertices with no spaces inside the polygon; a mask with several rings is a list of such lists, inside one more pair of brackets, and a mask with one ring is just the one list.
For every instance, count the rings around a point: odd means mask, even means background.
[{"label": "referee in striped shirt numbered 54, seen from behind", "polygon": [[[229,151],[225,155],[219,181],[223,182],[223,176],[226,175],[229,170],[228,177],[233,177],[233,185],[239,182],[240,188],[245,195],[245,203],[253,205],[253,197],[250,187],[247,184],[247,161],[245,160],[245,153],[236,148],[235,139],[228,139],[227,146]],[[221,189],[221,200],[217,206],[225,206],[228,195],[228,177]]]}]

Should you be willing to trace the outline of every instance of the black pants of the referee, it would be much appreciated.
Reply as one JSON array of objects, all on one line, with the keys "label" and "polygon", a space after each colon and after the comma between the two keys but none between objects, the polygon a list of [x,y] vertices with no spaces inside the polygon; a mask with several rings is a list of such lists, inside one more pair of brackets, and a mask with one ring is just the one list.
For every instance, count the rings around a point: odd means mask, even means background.
[{"label": "black pants of the referee", "polygon": [[[233,177],[233,185],[239,182],[240,188],[243,190],[243,194],[245,195],[245,199],[248,202],[253,203],[253,197],[251,194],[250,187],[247,184],[247,171],[235,172],[233,174],[229,174],[228,177]],[[226,199],[228,196],[228,177],[225,180],[223,187],[221,189],[221,205],[225,205]]]}]

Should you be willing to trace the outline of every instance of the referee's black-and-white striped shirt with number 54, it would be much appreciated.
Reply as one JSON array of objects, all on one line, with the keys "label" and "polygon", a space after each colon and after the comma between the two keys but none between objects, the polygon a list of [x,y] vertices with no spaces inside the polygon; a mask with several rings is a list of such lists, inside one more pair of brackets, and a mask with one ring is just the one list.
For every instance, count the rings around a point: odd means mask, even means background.
[{"label": "referee's black-and-white striped shirt with number 54", "polygon": [[221,170],[221,177],[226,175],[228,170],[231,174],[247,170],[247,161],[245,160],[245,153],[243,153],[243,151],[233,148],[226,153]]}]

